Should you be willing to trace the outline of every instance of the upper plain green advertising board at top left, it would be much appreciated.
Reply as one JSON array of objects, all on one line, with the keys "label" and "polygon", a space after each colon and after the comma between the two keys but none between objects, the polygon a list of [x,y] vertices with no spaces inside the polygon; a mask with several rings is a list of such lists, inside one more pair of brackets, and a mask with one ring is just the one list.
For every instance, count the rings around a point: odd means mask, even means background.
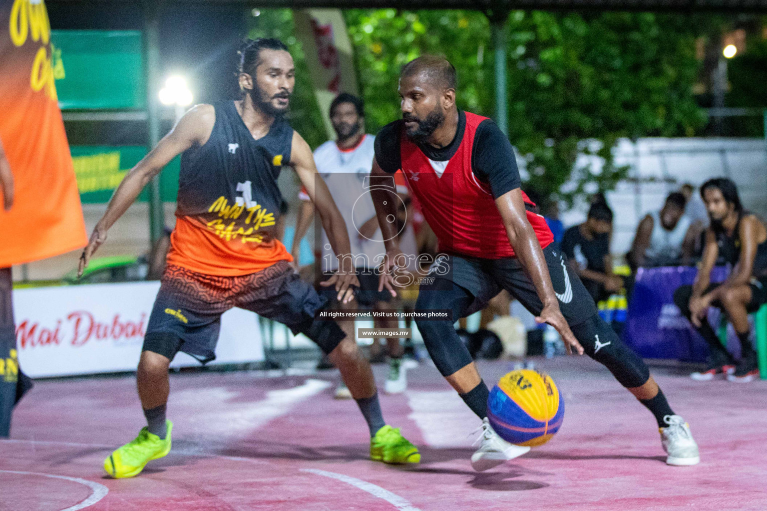
[{"label": "upper plain green advertising board at top left", "polygon": [[61,110],[146,108],[141,31],[51,31]]}]

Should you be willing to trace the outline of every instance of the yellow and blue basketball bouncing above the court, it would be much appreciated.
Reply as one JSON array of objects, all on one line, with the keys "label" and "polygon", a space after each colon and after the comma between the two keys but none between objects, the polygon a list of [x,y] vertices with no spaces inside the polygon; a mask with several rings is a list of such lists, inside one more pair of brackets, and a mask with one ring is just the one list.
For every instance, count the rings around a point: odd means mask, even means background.
[{"label": "yellow and blue basketball bouncing above the court", "polygon": [[559,431],[565,401],[550,376],[520,369],[509,372],[492,388],[487,418],[505,441],[535,447]]}]

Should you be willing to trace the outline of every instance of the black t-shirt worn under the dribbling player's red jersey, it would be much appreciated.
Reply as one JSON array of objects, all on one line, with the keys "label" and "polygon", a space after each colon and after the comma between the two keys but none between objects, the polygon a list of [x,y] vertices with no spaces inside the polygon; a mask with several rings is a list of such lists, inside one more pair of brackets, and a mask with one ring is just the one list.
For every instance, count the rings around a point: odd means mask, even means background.
[{"label": "black t-shirt worn under the dribbling player's red jersey", "polygon": [[[426,158],[434,162],[446,162],[453,158],[466,131],[466,113],[459,110],[458,116],[458,129],[453,142],[440,148],[429,144],[417,144]],[[376,162],[385,172],[393,174],[402,168],[400,134],[403,129],[403,120],[396,120],[381,128],[376,136]],[[494,198],[499,198],[522,185],[514,148],[492,120],[483,120],[474,133],[472,172],[479,181],[490,185]]]}]

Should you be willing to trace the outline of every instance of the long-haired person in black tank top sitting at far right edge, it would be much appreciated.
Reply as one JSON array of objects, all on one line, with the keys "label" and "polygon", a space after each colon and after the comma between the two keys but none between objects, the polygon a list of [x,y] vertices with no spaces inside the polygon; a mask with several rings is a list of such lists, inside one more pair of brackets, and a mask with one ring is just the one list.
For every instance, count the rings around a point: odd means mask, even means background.
[{"label": "long-haired person in black tank top sitting at far right edge", "polygon": [[[711,224],[706,230],[703,261],[693,286],[682,286],[674,302],[693,323],[709,345],[703,372],[693,372],[696,380],[727,375],[732,382],[751,382],[758,378],[756,352],[751,344],[749,313],[767,303],[767,228],[765,223],[743,211],[735,183],[727,178],[709,179],[700,187]],[[711,269],[723,258],[732,273],[723,283],[710,283]],[[736,362],[719,342],[706,313],[709,306],[722,309],[735,329],[741,346]]]}]

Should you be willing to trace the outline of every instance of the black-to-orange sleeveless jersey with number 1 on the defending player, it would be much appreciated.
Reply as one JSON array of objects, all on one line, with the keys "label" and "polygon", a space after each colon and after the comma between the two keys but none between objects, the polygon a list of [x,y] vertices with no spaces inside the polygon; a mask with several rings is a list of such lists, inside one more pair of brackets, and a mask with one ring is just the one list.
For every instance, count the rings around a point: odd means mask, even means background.
[{"label": "black-to-orange sleeveless jersey with number 1 on the defending player", "polygon": [[291,260],[274,231],[284,202],[277,178],[290,162],[293,129],[276,119],[255,140],[233,101],[213,107],[210,138],[181,155],[168,263],[231,276]]}]

